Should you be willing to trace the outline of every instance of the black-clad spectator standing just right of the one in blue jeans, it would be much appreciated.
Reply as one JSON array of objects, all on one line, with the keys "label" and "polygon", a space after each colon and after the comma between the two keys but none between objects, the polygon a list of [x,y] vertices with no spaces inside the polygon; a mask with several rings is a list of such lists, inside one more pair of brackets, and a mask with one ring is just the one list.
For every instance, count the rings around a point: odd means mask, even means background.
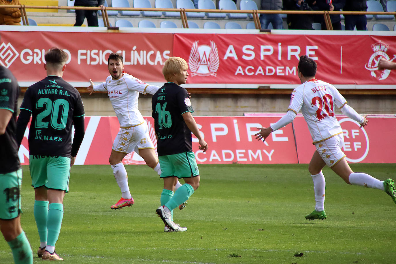
[{"label": "black-clad spectator standing just right of the one in blue jeans", "polygon": [[[284,10],[298,10],[308,11],[313,9],[305,0],[284,0]],[[287,15],[287,25],[289,29],[312,29],[313,16],[312,15]]]}]

